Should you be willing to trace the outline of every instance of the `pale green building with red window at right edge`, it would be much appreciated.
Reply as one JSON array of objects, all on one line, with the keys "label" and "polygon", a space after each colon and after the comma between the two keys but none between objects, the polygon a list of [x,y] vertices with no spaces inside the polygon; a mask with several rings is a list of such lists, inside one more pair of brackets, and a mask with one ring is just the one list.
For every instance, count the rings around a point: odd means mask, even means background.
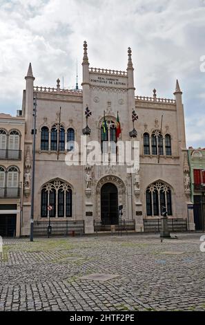
[{"label": "pale green building with red window at right edge", "polygon": [[191,176],[191,201],[194,203],[196,230],[205,229],[205,148],[188,148]]}]

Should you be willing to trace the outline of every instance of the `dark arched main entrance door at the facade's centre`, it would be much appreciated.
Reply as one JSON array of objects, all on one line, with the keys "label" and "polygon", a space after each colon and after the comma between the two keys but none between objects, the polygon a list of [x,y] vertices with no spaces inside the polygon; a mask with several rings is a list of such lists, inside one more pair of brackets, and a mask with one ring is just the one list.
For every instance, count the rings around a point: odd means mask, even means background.
[{"label": "dark arched main entrance door at the facade's centre", "polygon": [[101,187],[101,221],[106,225],[118,224],[118,192],[113,183]]}]

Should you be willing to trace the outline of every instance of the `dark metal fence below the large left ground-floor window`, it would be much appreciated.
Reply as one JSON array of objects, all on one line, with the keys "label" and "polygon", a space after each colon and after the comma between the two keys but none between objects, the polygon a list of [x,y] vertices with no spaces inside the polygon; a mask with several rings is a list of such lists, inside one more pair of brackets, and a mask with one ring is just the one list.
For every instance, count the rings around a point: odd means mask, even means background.
[{"label": "dark metal fence below the large left ground-floor window", "polygon": [[[34,236],[46,236],[48,234],[49,221],[34,221]],[[50,221],[51,235],[74,236],[84,234],[84,220],[79,221]]]}]

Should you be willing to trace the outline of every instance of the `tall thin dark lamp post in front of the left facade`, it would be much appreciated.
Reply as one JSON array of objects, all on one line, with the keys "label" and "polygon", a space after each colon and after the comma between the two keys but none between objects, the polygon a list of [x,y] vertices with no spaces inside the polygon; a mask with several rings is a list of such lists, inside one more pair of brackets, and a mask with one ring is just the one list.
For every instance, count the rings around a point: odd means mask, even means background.
[{"label": "tall thin dark lamp post in front of the left facade", "polygon": [[31,207],[30,207],[30,241],[33,241],[33,221],[34,221],[34,196],[35,196],[35,150],[36,150],[36,124],[37,124],[37,94],[33,97],[33,142],[32,142],[32,187],[31,187]]}]

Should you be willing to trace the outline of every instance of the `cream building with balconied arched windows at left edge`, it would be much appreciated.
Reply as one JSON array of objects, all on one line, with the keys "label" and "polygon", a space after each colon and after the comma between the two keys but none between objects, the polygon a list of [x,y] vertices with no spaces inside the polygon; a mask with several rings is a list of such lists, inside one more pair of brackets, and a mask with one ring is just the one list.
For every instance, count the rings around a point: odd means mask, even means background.
[{"label": "cream building with balconied arched windows at left edge", "polygon": [[24,118],[0,113],[0,236],[20,236]]}]

